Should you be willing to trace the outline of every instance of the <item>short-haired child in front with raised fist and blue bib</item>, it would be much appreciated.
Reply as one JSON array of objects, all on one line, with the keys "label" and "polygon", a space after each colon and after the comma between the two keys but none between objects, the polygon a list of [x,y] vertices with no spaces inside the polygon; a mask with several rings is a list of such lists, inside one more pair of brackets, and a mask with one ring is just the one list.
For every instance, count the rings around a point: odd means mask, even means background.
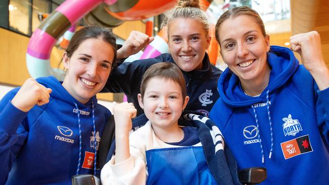
[{"label": "short-haired child in front with raised fist and blue bib", "polygon": [[149,120],[130,134],[137,110],[127,102],[114,107],[116,151],[102,169],[102,184],[238,184],[212,121],[195,114],[179,119],[189,97],[177,65],[152,65],[140,90],[139,105]]}]

